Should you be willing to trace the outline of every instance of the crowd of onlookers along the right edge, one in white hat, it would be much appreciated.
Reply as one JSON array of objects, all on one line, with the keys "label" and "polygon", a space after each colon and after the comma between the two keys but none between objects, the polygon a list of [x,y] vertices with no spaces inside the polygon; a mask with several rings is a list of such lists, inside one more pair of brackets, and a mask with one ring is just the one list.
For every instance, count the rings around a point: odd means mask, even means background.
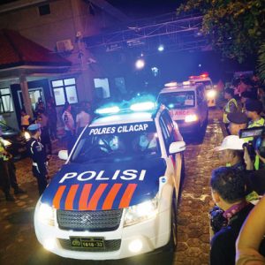
[{"label": "crowd of onlookers along the right edge, one in white hat", "polygon": [[[209,214],[213,265],[265,264],[264,91],[257,79],[244,77],[224,90],[228,136],[215,148],[223,166],[210,180],[216,203]],[[252,128],[262,128],[261,134],[252,134]],[[249,137],[243,137],[244,129]]]}]

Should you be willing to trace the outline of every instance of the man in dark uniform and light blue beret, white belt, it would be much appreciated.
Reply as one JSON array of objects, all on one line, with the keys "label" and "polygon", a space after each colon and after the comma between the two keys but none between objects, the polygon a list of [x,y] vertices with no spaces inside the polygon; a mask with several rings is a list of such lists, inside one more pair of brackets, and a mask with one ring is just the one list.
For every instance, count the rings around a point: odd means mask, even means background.
[{"label": "man in dark uniform and light blue beret, white belt", "polygon": [[27,141],[27,150],[28,154],[33,160],[32,171],[34,177],[37,178],[39,193],[42,195],[48,184],[48,170],[45,148],[40,141],[40,136],[42,133],[41,125],[29,125],[27,130],[31,133],[31,138]]}]

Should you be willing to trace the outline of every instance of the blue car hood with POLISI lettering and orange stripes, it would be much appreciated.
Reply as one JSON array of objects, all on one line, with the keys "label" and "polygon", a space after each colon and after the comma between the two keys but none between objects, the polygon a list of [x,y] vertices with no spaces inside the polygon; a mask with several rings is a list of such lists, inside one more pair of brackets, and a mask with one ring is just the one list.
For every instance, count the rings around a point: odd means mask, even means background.
[{"label": "blue car hood with POLISI lettering and orange stripes", "polygon": [[162,158],[65,164],[50,181],[41,201],[64,210],[127,208],[154,198],[165,170]]}]

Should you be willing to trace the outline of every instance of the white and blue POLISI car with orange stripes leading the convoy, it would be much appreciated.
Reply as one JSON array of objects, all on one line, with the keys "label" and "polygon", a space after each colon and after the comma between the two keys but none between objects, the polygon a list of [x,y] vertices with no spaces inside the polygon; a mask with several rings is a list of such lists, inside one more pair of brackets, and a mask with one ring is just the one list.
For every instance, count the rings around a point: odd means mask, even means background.
[{"label": "white and blue POLISI car with orange stripes leading the convoy", "polygon": [[[34,212],[42,246],[73,259],[109,260],[176,244],[186,143],[164,106],[97,110]],[[110,115],[111,114],[111,115]]]}]

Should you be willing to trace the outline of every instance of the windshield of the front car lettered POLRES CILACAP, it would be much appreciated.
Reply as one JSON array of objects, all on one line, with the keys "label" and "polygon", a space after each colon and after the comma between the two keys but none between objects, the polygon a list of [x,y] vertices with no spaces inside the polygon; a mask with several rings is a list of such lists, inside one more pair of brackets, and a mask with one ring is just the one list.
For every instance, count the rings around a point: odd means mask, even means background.
[{"label": "windshield of the front car lettered POLRES CILACAP", "polygon": [[160,155],[155,123],[90,126],[71,157],[72,163],[114,162]]}]

